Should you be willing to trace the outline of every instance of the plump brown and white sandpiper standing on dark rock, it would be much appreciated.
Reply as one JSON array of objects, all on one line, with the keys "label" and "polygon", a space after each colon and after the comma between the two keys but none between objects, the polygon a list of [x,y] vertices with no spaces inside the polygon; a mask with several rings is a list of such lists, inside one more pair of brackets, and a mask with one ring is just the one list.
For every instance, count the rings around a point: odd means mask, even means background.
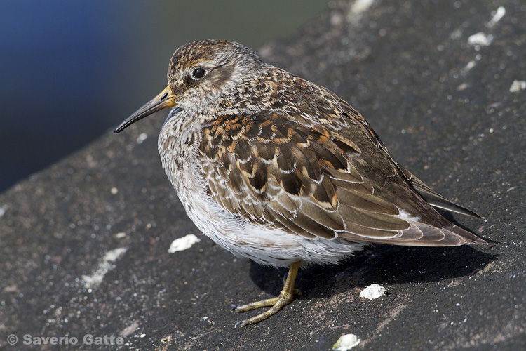
[{"label": "plump brown and white sandpiper standing on dark rock", "polygon": [[226,40],[175,51],[168,86],[116,129],[171,108],[159,156],[189,218],[235,256],[288,267],[261,322],[299,293],[299,268],[329,265],[367,244],[458,246],[486,241],[438,209],[481,218],[398,164],[362,115],[335,93]]}]

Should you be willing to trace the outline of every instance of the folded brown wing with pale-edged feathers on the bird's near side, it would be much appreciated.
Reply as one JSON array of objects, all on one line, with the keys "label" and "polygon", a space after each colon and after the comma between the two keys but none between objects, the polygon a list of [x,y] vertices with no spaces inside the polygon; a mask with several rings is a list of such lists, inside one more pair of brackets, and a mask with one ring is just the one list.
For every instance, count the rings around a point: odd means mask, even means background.
[{"label": "folded brown wing with pale-edged feathers on the bird's near side", "polygon": [[203,128],[210,196],[251,223],[309,238],[483,242],[422,199],[358,112],[339,103],[311,106],[224,115]]}]

